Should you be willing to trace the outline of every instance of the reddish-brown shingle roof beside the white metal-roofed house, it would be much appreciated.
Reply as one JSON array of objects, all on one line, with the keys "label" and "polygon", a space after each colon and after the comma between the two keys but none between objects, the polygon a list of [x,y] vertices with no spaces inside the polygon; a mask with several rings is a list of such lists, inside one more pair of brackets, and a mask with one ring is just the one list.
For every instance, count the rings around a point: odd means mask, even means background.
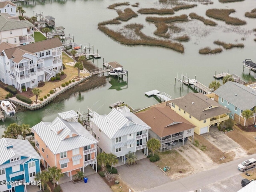
[{"label": "reddish-brown shingle roof beside the white metal-roofed house", "polygon": [[149,110],[138,112],[135,115],[148,124],[151,127],[151,130],[160,137],[195,127],[169,106],[152,107]]}]

